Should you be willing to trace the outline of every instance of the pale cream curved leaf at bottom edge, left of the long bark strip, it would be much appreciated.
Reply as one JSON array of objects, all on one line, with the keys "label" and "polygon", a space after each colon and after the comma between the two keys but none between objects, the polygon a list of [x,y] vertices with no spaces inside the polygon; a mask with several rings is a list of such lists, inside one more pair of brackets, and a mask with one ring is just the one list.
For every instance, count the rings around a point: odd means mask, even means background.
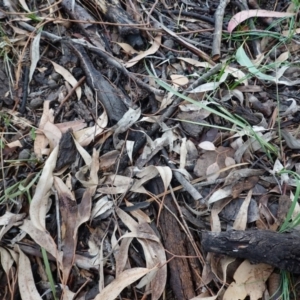
[{"label": "pale cream curved leaf at bottom edge, left of the long bark strip", "polygon": [[122,272],[118,278],[106,286],[101,293],[99,293],[95,300],[114,300],[118,295],[130,284],[137,281],[152,269],[147,268],[132,268]]}]

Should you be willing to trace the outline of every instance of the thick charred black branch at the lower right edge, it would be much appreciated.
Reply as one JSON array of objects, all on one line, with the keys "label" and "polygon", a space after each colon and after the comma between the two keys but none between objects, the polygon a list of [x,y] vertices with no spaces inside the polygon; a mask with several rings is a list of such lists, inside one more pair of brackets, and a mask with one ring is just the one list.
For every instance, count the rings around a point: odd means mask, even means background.
[{"label": "thick charred black branch at the lower right edge", "polygon": [[253,263],[266,263],[291,273],[300,273],[300,238],[296,231],[203,232],[202,246],[207,252],[244,258]]}]

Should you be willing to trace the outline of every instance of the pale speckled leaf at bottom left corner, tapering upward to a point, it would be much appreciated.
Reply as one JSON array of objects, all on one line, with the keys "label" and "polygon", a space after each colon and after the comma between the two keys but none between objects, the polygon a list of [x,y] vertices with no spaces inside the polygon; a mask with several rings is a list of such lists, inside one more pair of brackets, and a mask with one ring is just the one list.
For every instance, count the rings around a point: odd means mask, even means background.
[{"label": "pale speckled leaf at bottom left corner, tapering upward to a point", "polygon": [[23,300],[42,300],[32,274],[29,258],[20,250],[18,262],[18,284],[20,296]]}]

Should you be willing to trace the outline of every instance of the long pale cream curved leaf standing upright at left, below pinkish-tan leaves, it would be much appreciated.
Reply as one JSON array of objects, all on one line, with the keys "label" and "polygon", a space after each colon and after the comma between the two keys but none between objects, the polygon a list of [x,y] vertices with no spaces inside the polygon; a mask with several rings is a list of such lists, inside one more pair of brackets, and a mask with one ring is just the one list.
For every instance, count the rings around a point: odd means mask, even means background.
[{"label": "long pale cream curved leaf standing upright at left, below pinkish-tan leaves", "polygon": [[53,170],[56,165],[57,154],[58,146],[54,148],[46,160],[43,172],[35,189],[35,194],[33,195],[30,203],[30,219],[34,226],[41,231],[46,231],[45,218],[48,203],[48,193],[53,183]]}]

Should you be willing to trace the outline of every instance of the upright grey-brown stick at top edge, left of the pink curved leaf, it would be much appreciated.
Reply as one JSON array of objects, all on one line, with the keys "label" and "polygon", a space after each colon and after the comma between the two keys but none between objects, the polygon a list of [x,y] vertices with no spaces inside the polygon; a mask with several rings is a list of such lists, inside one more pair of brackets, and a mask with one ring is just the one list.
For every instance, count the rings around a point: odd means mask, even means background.
[{"label": "upright grey-brown stick at top edge, left of the pink curved leaf", "polygon": [[212,45],[212,57],[214,61],[218,61],[220,59],[223,19],[225,8],[229,1],[230,0],[221,0],[215,12],[215,32]]}]

